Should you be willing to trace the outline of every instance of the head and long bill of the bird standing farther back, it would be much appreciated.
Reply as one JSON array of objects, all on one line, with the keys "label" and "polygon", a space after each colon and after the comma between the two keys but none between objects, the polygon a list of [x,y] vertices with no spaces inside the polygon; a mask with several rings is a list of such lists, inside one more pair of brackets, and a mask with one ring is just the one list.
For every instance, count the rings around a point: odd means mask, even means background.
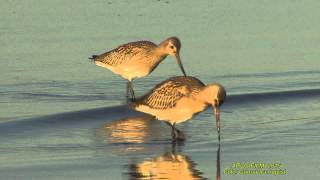
[{"label": "head and long bill of the bird standing farther back", "polygon": [[170,37],[166,40],[164,40],[160,46],[162,46],[164,53],[170,56],[173,56],[176,58],[177,63],[183,73],[184,76],[187,76],[185,73],[185,70],[183,68],[181,59],[180,59],[180,48],[181,48],[181,42],[177,37]]}]

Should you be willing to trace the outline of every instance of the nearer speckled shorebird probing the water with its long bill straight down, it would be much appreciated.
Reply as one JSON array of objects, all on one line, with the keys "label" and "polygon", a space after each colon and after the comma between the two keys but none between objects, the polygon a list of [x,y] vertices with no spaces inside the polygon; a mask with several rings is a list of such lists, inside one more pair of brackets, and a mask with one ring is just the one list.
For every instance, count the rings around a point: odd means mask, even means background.
[{"label": "nearer speckled shorebird probing the water with its long bill straight down", "polygon": [[177,76],[161,82],[130,107],[166,122],[172,128],[172,140],[176,141],[184,139],[183,133],[175,127],[177,123],[212,106],[220,142],[220,106],[225,98],[226,91],[220,84],[205,85],[195,77]]}]

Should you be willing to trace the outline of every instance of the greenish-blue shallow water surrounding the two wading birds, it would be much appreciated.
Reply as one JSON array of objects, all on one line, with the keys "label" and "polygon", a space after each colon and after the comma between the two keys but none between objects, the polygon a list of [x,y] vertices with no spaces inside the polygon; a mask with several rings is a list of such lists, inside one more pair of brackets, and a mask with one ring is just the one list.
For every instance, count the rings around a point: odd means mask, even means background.
[{"label": "greenish-blue shallow water surrounding the two wading birds", "polygon": [[[0,7],[1,179],[216,179],[205,111],[170,128],[128,110],[125,81],[87,59],[175,35],[188,75],[219,82],[221,179],[319,179],[318,1],[17,1]],[[134,82],[142,95],[181,72],[168,57]],[[231,174],[281,163],[284,175]],[[256,170],[256,169],[254,169]],[[268,169],[269,170],[269,169]]]}]

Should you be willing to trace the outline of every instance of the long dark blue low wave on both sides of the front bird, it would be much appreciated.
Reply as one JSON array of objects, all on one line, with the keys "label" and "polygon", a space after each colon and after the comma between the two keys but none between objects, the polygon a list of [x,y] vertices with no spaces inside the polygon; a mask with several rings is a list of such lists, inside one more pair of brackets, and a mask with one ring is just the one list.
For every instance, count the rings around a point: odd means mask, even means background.
[{"label": "long dark blue low wave on both sides of the front bird", "polygon": [[[318,97],[320,97],[320,89],[228,95],[222,110],[228,112],[239,106],[276,104],[315,99]],[[29,119],[10,120],[0,123],[0,135],[23,137],[25,135],[47,133],[59,128],[97,128],[105,122],[138,114],[141,113],[130,110],[126,105],[122,105],[59,113]]]}]

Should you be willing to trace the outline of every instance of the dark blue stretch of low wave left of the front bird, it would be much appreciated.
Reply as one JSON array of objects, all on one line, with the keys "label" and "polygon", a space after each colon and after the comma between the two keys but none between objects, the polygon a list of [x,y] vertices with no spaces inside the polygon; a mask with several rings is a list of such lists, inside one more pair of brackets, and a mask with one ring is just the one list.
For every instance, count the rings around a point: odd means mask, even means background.
[{"label": "dark blue stretch of low wave left of the front bird", "polygon": [[123,117],[141,114],[127,106],[103,107],[59,113],[30,119],[11,120],[0,123],[0,135],[15,137],[33,136],[54,132],[57,129],[96,128],[101,124]]}]

